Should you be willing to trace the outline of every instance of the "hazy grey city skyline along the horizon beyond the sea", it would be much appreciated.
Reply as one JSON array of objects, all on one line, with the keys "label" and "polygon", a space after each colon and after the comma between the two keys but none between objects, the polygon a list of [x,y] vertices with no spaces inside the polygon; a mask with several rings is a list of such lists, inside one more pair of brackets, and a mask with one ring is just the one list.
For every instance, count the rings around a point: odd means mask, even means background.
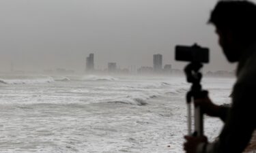
[{"label": "hazy grey city skyline along the horizon beyond the sea", "polygon": [[[172,63],[164,63],[163,61],[165,60],[165,56],[163,56],[162,54],[156,53],[156,54],[152,54],[152,62],[150,63],[150,65],[128,65],[128,66],[121,66],[119,65],[119,63],[116,62],[107,62],[104,63],[104,65],[98,65],[97,63],[97,58],[98,55],[94,56],[94,53],[89,53],[88,56],[85,57],[85,61],[84,61],[84,68],[82,71],[75,71],[74,69],[69,69],[68,67],[51,67],[48,69],[38,69],[38,71],[23,71],[21,69],[15,69],[15,66],[12,64],[11,65],[11,69],[10,71],[5,71],[5,72],[18,72],[18,73],[25,73],[25,72],[43,72],[43,73],[95,73],[95,72],[111,72],[111,73],[115,73],[115,71],[119,71],[119,72],[125,72],[125,73],[148,73],[149,71],[151,71],[150,73],[162,73],[162,72],[167,72],[170,70],[173,71],[183,71],[182,69],[179,69],[177,67],[173,67]],[[95,58],[96,57],[96,58]],[[96,62],[95,62],[96,61]],[[118,60],[114,60],[114,61],[118,61]],[[186,65],[188,63],[184,63],[184,65]],[[109,71],[109,69],[111,69]],[[147,71],[147,72],[145,72]],[[214,72],[208,69],[203,69],[204,72]],[[226,70],[216,70],[215,72],[224,72]],[[231,69],[227,72],[233,73],[233,71],[236,71],[236,69]],[[0,72],[4,72],[4,71],[0,71]]]}]

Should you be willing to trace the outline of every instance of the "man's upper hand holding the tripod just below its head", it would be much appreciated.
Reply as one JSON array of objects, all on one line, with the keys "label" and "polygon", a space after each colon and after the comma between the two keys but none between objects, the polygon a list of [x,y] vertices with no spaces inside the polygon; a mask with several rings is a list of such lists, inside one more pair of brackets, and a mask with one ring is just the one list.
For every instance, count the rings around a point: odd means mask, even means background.
[{"label": "man's upper hand holding the tripod just below its head", "polygon": [[201,107],[203,114],[207,114],[212,117],[219,117],[219,106],[212,103],[209,97],[205,97],[204,99],[196,99],[194,101],[195,106]]}]

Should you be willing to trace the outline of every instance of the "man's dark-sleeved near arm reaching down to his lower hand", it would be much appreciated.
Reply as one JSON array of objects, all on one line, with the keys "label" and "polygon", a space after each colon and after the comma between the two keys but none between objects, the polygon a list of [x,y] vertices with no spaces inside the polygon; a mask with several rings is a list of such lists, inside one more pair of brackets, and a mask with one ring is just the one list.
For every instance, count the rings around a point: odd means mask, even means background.
[{"label": "man's dark-sleeved near arm reaching down to his lower hand", "polygon": [[197,152],[240,153],[246,148],[255,130],[255,90],[253,86],[236,84],[233,105],[224,129],[215,143],[201,143]]}]

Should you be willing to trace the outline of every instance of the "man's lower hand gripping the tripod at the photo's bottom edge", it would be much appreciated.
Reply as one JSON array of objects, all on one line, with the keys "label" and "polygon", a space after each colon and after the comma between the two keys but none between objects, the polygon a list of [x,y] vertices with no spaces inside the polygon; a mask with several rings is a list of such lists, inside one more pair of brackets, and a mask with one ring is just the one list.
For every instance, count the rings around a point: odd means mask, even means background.
[{"label": "man's lower hand gripping the tripod at the photo's bottom edge", "polygon": [[208,143],[207,137],[193,137],[185,136],[186,142],[184,143],[184,150],[186,153],[197,153],[197,146],[201,142]]}]

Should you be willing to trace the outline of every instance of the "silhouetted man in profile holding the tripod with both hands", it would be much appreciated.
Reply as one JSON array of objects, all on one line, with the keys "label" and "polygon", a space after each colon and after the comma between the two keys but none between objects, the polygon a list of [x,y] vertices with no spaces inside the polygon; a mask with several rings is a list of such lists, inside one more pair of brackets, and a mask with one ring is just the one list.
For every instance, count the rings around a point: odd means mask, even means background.
[{"label": "silhouetted man in profile holding the tripod with both hands", "polygon": [[256,125],[256,5],[249,1],[218,1],[210,16],[227,60],[238,62],[231,107],[209,98],[195,101],[203,113],[225,122],[219,139],[185,136],[187,153],[240,153],[248,145]]}]

